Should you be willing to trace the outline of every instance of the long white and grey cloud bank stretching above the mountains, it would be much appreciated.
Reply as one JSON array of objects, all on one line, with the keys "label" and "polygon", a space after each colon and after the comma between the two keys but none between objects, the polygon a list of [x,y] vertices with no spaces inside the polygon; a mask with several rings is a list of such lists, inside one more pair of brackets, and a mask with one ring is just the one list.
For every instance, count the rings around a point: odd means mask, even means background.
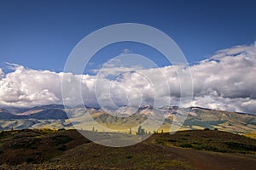
[{"label": "long white and grey cloud bank stretching above the mountains", "polygon": [[[178,105],[180,79],[185,80],[191,71],[194,97],[186,106],[256,113],[256,43],[220,50],[212,58],[185,68],[170,65],[139,72],[121,68],[125,70],[121,73],[120,67],[113,66],[108,68],[115,73],[113,77],[38,71],[22,65],[11,67],[13,71],[7,74],[0,68],[1,107],[61,104],[62,77],[67,81],[63,90],[70,94],[65,101],[73,105],[80,104],[80,94],[88,106],[96,106],[99,102],[103,105],[151,105],[156,97],[159,103],[170,100],[170,105]],[[183,77],[177,77],[177,71]],[[81,93],[73,87],[74,83],[81,83]],[[106,93],[109,91],[111,96]]]}]

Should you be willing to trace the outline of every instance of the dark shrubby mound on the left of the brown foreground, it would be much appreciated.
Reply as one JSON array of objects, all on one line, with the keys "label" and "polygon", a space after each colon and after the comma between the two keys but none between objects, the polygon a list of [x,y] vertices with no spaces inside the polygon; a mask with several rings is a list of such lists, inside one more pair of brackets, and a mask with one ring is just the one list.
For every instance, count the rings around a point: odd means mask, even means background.
[{"label": "dark shrubby mound on the left of the brown foreground", "polygon": [[0,165],[41,163],[87,142],[89,140],[75,130],[57,132],[47,128],[5,131],[0,138]]}]

